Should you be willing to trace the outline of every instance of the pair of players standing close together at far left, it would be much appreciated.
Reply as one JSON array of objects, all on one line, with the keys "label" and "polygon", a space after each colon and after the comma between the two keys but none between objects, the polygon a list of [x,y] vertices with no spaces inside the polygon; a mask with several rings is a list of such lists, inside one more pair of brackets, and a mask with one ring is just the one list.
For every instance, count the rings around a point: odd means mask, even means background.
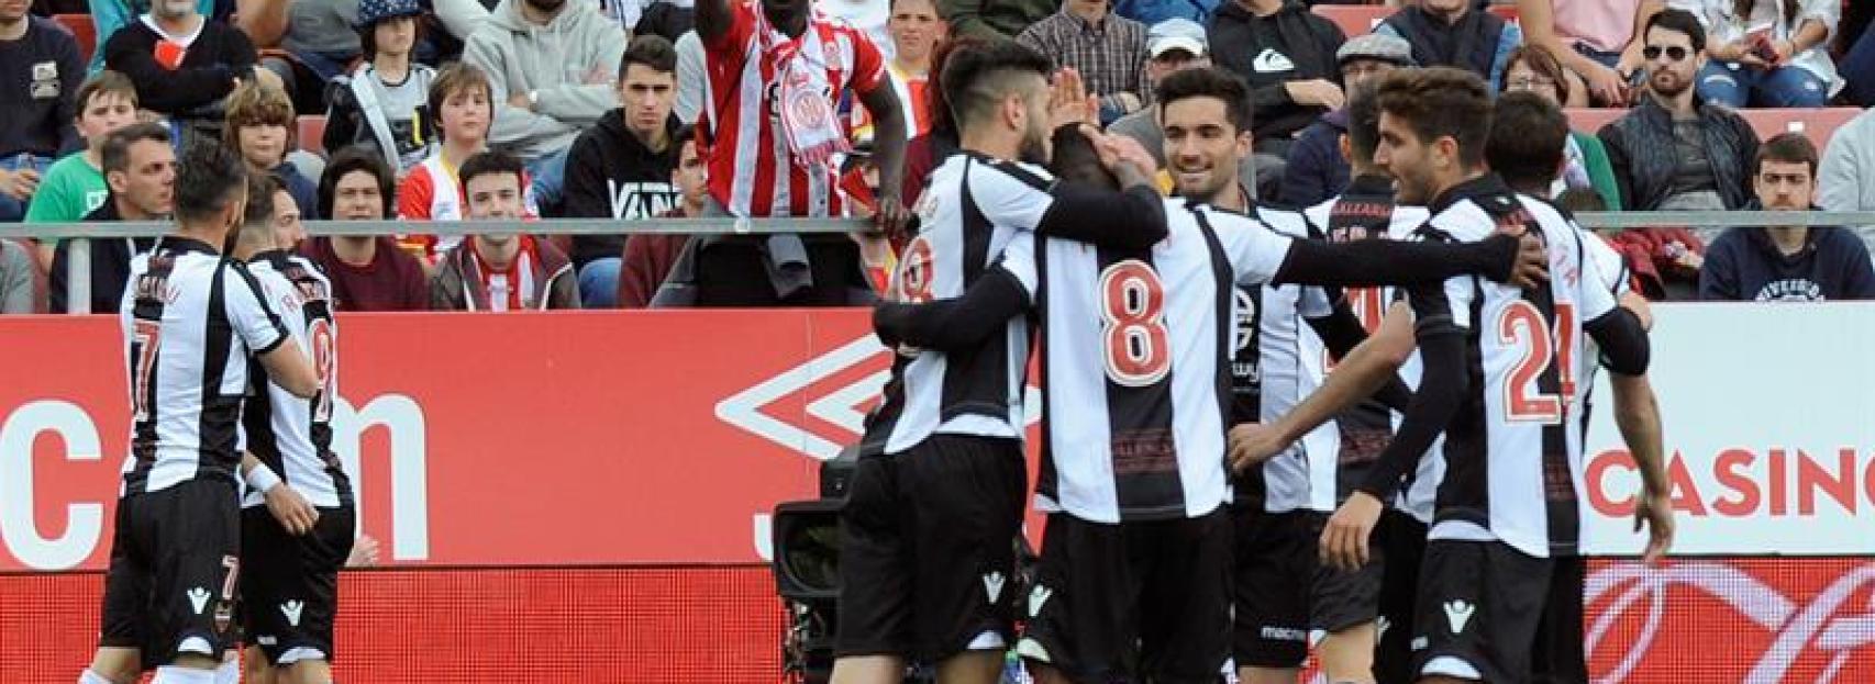
[{"label": "pair of players standing close together at far left", "polygon": [[234,682],[244,639],[249,682],[328,684],[354,538],[330,450],[330,285],[287,251],[302,234],[274,202],[285,189],[212,141],[176,165],[176,225],[133,259],[118,313],[131,457],[79,682]]}]

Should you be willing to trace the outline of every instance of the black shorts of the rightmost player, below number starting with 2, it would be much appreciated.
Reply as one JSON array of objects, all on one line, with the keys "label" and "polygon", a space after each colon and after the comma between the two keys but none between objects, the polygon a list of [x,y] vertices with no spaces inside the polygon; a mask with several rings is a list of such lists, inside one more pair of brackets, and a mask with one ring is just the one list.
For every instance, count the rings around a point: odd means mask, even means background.
[{"label": "black shorts of the rightmost player, below number starting with 2", "polygon": [[1502,542],[1432,540],[1419,573],[1414,663],[1421,675],[1526,682],[1551,558]]}]

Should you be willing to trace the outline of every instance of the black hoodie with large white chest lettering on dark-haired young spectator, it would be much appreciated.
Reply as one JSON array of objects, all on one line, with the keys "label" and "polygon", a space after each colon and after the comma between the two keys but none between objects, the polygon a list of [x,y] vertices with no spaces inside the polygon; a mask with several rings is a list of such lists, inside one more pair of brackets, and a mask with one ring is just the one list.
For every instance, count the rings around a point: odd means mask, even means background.
[{"label": "black hoodie with large white chest lettering on dark-haired young spectator", "polygon": [[[675,139],[677,118],[669,118],[664,127]],[[671,186],[677,152],[675,144],[651,152],[624,127],[622,109],[606,112],[566,152],[564,216],[649,219],[679,206],[677,186]],[[574,236],[576,266],[622,255],[624,236]]]}]

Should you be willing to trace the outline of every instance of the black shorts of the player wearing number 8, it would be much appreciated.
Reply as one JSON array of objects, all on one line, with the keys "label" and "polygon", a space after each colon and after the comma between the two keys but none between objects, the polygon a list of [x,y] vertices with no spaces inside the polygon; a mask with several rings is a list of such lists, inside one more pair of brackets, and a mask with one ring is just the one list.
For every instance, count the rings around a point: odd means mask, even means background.
[{"label": "black shorts of the player wearing number 8", "polygon": [[1074,682],[1217,682],[1230,656],[1232,523],[1048,515],[1016,654]]}]

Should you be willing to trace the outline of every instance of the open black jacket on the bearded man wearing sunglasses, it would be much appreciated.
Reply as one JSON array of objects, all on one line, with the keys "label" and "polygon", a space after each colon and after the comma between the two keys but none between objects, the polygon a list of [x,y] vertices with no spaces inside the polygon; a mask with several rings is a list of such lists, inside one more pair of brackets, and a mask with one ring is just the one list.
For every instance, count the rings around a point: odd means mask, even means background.
[{"label": "open black jacket on the bearded man wearing sunglasses", "polygon": [[[1706,159],[1712,161],[1712,180],[1727,210],[1751,202],[1751,167],[1757,163],[1757,131],[1731,109],[1699,105],[1699,120],[1706,129]],[[1678,157],[1672,135],[1672,112],[1654,97],[1644,97],[1612,124],[1603,126],[1601,146],[1609,148],[1614,184],[1629,212],[1654,212],[1672,191]]]}]

